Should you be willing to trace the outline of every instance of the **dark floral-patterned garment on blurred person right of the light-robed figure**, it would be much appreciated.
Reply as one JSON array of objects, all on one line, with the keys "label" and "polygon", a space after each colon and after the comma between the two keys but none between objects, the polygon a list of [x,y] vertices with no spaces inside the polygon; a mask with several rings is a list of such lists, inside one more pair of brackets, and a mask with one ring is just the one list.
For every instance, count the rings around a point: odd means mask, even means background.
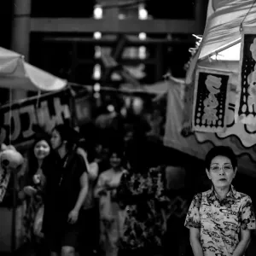
[{"label": "dark floral-patterned garment on blurred person right of the light-robed figure", "polygon": [[[151,168],[147,173],[125,173],[117,197],[126,207],[124,234],[120,239],[122,249],[161,246],[165,232],[167,197],[161,168]],[[136,201],[136,196],[139,200]],[[129,197],[131,200],[129,201]]]}]

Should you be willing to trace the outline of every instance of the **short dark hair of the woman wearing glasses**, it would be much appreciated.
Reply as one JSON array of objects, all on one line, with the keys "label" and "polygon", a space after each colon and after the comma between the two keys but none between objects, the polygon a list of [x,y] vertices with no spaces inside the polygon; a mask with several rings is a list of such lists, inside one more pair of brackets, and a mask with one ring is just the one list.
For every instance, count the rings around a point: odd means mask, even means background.
[{"label": "short dark hair of the woman wearing glasses", "polygon": [[233,168],[235,169],[237,167],[236,154],[234,153],[232,148],[226,146],[217,146],[210,149],[210,151],[207,153],[205,160],[207,170],[210,169],[212,159],[215,158],[216,156],[227,157],[231,161]]}]

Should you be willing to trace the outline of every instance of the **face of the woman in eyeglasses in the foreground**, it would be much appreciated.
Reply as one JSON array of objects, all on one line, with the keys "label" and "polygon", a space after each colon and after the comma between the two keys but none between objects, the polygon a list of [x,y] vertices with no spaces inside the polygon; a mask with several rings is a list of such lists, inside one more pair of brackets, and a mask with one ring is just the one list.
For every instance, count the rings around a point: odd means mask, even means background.
[{"label": "face of the woman in eyeglasses in the foreground", "polygon": [[207,176],[216,188],[229,187],[236,176],[229,158],[218,155],[212,159],[210,170],[207,170]]}]

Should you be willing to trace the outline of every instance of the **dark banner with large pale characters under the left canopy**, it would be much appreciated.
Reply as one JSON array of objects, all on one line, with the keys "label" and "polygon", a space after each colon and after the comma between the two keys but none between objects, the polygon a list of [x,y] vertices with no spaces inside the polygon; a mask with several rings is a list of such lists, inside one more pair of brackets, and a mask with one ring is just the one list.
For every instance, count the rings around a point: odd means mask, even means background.
[{"label": "dark banner with large pale characters under the left canopy", "polygon": [[34,136],[34,125],[50,131],[57,124],[69,122],[72,116],[69,99],[69,90],[61,90],[16,102],[11,107],[3,106],[0,108],[0,143],[15,146],[28,143]]}]

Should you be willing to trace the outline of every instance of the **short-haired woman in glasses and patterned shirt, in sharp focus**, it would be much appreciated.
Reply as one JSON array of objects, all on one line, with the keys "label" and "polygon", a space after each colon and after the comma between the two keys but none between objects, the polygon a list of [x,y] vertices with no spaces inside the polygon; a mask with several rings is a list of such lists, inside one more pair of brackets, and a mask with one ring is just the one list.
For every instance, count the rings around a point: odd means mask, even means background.
[{"label": "short-haired woman in glasses and patterned shirt, in sharp focus", "polygon": [[242,256],[255,230],[253,204],[231,185],[237,172],[229,147],[212,148],[206,157],[212,189],[195,195],[185,220],[195,256]]}]

